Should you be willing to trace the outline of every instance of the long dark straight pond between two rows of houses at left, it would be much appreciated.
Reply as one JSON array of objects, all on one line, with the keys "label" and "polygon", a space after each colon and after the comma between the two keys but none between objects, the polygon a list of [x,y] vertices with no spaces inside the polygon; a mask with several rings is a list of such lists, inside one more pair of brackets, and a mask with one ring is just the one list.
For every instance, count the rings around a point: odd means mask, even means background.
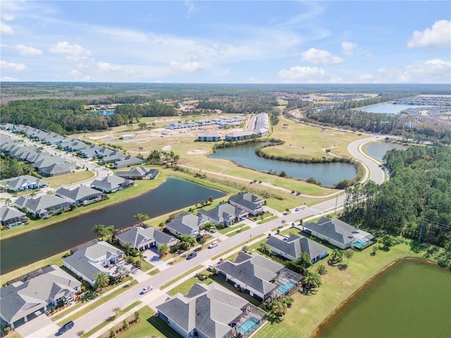
[{"label": "long dark straight pond between two rows of houses at left", "polygon": [[154,218],[198,204],[201,200],[207,201],[209,196],[218,199],[226,194],[185,180],[168,178],[159,187],[133,199],[5,239],[1,241],[1,274],[95,239],[92,227],[96,224],[123,229],[137,223],[133,216],[138,213]]}]

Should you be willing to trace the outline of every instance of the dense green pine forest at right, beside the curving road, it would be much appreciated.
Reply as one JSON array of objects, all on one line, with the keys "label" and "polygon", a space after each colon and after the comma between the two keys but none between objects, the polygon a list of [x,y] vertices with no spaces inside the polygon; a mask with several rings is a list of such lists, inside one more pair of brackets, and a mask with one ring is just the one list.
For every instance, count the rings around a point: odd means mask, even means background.
[{"label": "dense green pine forest at right, beside the curving road", "polygon": [[451,149],[411,146],[384,160],[390,180],[347,188],[344,220],[451,249]]}]

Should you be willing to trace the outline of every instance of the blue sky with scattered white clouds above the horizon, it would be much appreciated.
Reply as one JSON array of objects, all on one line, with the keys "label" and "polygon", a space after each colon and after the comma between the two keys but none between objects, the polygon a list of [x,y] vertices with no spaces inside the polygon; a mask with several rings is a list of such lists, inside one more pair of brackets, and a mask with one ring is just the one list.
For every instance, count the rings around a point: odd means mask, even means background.
[{"label": "blue sky with scattered white clouds above the horizon", "polygon": [[451,83],[451,1],[4,1],[1,81]]}]

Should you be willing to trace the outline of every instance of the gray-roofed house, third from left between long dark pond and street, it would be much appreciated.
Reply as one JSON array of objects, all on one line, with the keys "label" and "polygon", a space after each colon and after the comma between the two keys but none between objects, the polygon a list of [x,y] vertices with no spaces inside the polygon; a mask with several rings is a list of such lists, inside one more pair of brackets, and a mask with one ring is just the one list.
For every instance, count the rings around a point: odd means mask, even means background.
[{"label": "gray-roofed house, third from left between long dark pond and street", "polygon": [[132,248],[138,250],[147,250],[153,247],[158,248],[161,244],[166,244],[168,247],[171,247],[180,242],[175,237],[156,230],[154,227],[134,227],[118,234],[116,237],[122,246],[125,243],[130,243]]}]

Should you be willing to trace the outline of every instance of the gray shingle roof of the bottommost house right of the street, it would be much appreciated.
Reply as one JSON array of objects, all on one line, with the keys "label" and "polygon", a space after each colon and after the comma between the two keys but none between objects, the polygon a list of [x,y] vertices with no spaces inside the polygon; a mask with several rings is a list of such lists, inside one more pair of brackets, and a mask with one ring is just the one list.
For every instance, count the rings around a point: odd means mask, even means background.
[{"label": "gray shingle roof of the bottommost house right of the street", "polygon": [[245,299],[211,283],[194,284],[185,296],[176,294],[156,308],[185,332],[196,329],[205,337],[220,338],[230,332],[229,324],[246,305]]}]

